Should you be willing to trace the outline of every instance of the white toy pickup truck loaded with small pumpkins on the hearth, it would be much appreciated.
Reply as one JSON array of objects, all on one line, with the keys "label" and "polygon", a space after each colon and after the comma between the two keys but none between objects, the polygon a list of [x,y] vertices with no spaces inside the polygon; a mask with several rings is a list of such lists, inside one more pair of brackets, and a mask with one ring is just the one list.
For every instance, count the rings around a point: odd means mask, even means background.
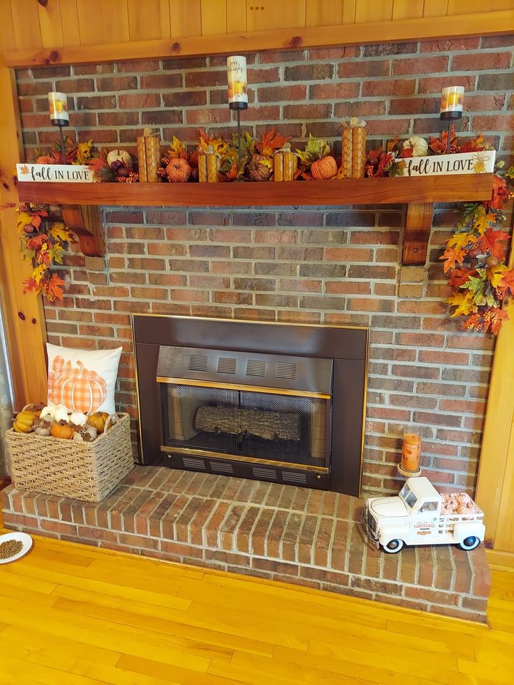
[{"label": "white toy pickup truck loaded with small pumpkins on the hearth", "polygon": [[464,493],[441,495],[428,478],[408,478],[397,497],[372,497],[362,520],[376,547],[395,554],[404,545],[474,550],[485,536],[483,511]]}]

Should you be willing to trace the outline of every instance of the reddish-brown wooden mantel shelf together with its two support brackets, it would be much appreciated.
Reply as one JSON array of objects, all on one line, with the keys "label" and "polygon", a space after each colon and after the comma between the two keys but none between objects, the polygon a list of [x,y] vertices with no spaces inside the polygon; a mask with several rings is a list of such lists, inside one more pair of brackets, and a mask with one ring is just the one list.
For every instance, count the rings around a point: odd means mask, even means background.
[{"label": "reddish-brown wooden mantel shelf together with its two support brackets", "polygon": [[[492,174],[291,181],[281,183],[31,183],[17,186],[22,202],[63,205],[64,220],[75,230],[87,254],[102,253],[98,212],[109,207],[337,207],[407,206],[402,263],[423,265],[432,228],[434,202],[490,200]],[[80,225],[82,206],[84,220]],[[71,209],[70,208],[73,208]],[[69,223],[67,216],[73,219]]]}]

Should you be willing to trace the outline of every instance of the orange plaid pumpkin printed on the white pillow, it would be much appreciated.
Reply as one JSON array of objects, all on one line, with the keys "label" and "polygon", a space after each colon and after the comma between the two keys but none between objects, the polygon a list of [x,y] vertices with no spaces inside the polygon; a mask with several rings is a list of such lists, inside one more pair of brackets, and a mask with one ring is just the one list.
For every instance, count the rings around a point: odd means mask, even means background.
[{"label": "orange plaid pumpkin printed on the white pillow", "polygon": [[64,360],[60,357],[54,359],[52,369],[54,367],[56,367],[54,374],[57,376],[57,381],[52,379],[52,396],[57,398],[52,399],[54,404],[64,404],[69,411],[89,414],[105,402],[107,383],[96,371],[89,371],[80,361],[77,361],[76,368],[72,367],[69,361],[64,364]]}]

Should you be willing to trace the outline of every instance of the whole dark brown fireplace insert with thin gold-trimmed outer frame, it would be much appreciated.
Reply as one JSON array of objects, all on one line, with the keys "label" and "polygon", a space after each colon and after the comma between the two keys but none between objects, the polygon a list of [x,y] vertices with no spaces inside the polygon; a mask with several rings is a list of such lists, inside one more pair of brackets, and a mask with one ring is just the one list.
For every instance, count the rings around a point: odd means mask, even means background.
[{"label": "whole dark brown fireplace insert with thin gold-trimmed outer frame", "polygon": [[133,335],[143,464],[359,493],[366,328],[133,315]]}]

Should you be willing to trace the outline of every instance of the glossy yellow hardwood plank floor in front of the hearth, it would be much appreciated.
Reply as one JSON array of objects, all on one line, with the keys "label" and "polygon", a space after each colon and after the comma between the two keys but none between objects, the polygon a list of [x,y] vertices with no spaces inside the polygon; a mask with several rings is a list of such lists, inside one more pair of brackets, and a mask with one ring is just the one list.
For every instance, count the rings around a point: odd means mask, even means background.
[{"label": "glossy yellow hardwood plank floor in front of the hearth", "polygon": [[490,629],[36,538],[0,566],[0,683],[513,682],[514,573]]}]

